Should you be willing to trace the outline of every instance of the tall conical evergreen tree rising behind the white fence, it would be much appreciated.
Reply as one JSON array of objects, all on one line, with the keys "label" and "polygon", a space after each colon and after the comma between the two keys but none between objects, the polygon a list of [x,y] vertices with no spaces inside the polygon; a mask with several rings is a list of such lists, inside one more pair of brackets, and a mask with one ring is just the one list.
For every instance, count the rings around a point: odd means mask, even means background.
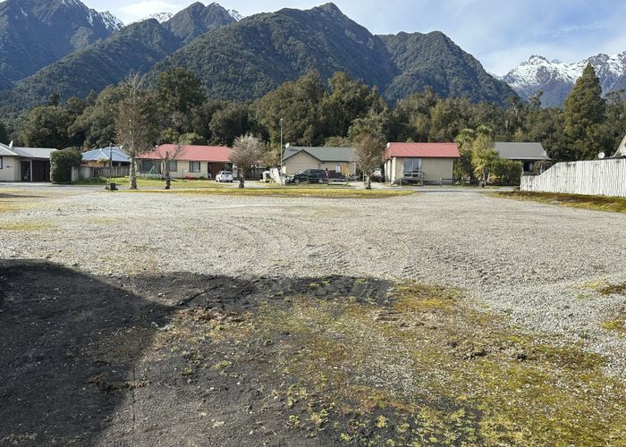
[{"label": "tall conical evergreen tree rising behind the white fence", "polygon": [[594,67],[588,63],[574,89],[565,99],[565,137],[570,147],[564,158],[593,158],[604,150],[601,124],[605,120],[605,99]]}]

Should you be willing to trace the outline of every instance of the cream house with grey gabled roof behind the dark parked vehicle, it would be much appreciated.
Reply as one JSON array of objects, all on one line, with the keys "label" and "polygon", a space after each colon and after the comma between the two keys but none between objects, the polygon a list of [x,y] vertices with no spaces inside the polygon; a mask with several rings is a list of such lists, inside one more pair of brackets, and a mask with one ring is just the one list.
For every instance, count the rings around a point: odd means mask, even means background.
[{"label": "cream house with grey gabled roof behind the dark parked vehicle", "polygon": [[328,169],[330,173],[357,173],[354,148],[309,148],[289,146],[283,154],[283,173],[293,175],[307,169]]}]

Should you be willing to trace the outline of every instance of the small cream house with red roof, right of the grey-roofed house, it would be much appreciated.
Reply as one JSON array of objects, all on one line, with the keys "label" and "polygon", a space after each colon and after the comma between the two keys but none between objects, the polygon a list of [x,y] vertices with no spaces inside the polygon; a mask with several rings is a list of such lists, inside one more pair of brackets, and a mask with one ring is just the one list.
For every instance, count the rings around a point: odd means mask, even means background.
[{"label": "small cream house with red roof, right of the grey-roofed house", "polygon": [[452,184],[456,143],[387,143],[385,181]]}]

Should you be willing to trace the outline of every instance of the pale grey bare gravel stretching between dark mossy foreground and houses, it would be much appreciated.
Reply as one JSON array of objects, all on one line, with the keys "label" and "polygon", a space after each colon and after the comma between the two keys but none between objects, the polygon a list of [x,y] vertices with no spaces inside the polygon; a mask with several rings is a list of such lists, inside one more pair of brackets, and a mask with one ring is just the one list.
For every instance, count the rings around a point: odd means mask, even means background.
[{"label": "pale grey bare gravel stretching between dark mossy foreground and houses", "polygon": [[472,190],[328,199],[0,189],[0,239],[0,259],[116,279],[337,276],[458,288],[469,308],[576,343],[607,358],[606,374],[626,376],[626,337],[610,325],[626,315],[626,215]]}]

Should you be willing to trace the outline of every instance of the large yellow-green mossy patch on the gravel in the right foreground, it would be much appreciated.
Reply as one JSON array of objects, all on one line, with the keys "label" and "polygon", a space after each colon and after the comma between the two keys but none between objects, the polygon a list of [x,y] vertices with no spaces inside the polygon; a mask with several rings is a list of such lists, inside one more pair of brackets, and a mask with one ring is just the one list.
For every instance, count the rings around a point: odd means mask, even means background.
[{"label": "large yellow-green mossy patch on the gravel in the right foreground", "polygon": [[624,388],[604,358],[537,342],[467,308],[460,291],[407,283],[390,299],[293,299],[256,316],[257,336],[291,334],[275,373],[312,426],[338,421],[339,439],[366,445],[626,440]]}]

